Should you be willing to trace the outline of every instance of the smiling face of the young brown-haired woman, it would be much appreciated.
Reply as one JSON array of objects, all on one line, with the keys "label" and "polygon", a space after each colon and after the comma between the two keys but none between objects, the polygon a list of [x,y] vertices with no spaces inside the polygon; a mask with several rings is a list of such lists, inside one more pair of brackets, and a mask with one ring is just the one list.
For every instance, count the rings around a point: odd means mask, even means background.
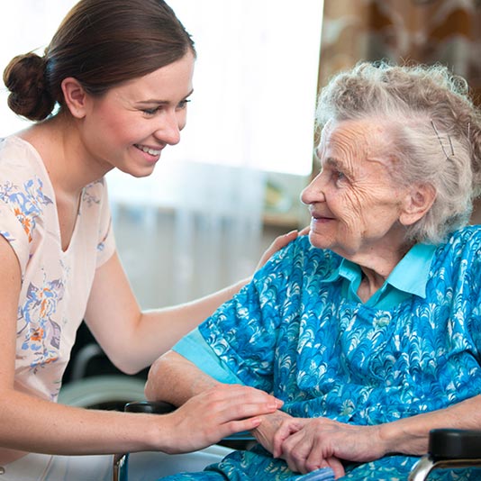
[{"label": "smiling face of the young brown-haired woman", "polygon": [[102,96],[86,95],[80,135],[91,159],[105,172],[119,168],[149,176],[167,145],[180,141],[192,93],[194,55],[115,86]]}]

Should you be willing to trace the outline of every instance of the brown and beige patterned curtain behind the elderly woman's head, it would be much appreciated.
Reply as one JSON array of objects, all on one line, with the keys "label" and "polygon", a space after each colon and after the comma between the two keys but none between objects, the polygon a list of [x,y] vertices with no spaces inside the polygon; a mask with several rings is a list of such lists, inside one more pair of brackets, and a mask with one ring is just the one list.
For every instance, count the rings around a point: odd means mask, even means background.
[{"label": "brown and beige patterned curtain behind the elderly woman's head", "polygon": [[326,0],[319,85],[361,59],[440,62],[479,96],[480,25],[479,0]]}]

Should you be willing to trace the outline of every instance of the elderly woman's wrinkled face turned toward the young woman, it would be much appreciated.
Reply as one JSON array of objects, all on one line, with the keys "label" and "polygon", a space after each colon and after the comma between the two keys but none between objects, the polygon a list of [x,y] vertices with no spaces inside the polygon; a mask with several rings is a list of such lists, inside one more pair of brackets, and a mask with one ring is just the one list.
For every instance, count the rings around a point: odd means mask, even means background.
[{"label": "elderly woman's wrinkled face turned toward the young woman", "polygon": [[317,150],[321,173],[302,195],[312,215],[310,241],[358,260],[401,251],[405,189],[389,169],[389,137],[373,120],[329,123]]}]

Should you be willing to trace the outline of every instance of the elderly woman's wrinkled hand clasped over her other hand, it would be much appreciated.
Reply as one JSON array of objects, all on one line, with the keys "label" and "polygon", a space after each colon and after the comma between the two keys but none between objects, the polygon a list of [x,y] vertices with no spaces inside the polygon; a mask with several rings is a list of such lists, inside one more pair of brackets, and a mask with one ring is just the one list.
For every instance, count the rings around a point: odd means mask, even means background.
[{"label": "elderly woman's wrinkled hand clasped over her other hand", "polygon": [[386,454],[378,426],[353,426],[327,418],[291,418],[274,436],[273,456],[286,460],[295,472],[331,467],[344,476],[340,459],[367,462]]}]

